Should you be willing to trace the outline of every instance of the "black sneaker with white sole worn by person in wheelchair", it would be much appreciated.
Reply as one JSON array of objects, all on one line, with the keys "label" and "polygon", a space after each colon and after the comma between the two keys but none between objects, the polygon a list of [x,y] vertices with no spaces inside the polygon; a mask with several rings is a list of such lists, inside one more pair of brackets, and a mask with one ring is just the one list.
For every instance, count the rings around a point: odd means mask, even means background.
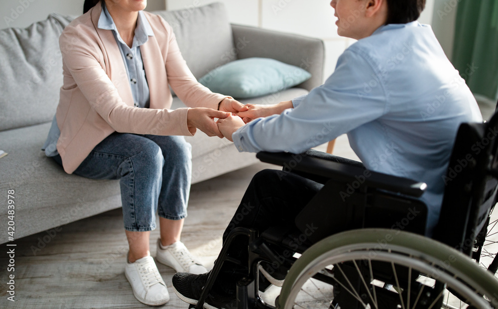
[{"label": "black sneaker with white sole worn by person in wheelchair", "polygon": [[[176,273],[173,276],[173,290],[179,299],[187,304],[197,305],[202,290],[208,281],[210,272],[195,275],[190,273]],[[227,294],[211,288],[206,301],[206,309],[236,309],[237,297],[235,294]]]}]

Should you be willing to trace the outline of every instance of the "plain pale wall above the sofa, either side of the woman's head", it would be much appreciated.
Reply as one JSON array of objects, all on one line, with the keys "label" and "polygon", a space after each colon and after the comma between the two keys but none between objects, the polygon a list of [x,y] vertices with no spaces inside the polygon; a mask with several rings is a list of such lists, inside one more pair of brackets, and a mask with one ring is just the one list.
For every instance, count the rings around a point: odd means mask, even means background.
[{"label": "plain pale wall above the sofa, either side of the woman's head", "polygon": [[[84,0],[0,0],[0,29],[27,27],[57,12],[81,15]],[[164,0],[148,0],[147,10],[165,9]]]}]

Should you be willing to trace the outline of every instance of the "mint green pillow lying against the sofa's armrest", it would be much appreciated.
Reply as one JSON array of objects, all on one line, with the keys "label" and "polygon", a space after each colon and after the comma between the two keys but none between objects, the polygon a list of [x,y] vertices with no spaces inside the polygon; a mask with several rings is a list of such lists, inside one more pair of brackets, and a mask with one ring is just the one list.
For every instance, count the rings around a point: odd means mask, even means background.
[{"label": "mint green pillow lying against the sofa's armrest", "polygon": [[247,58],[218,67],[199,82],[212,92],[248,99],[288,89],[310,77],[306,70],[275,59]]}]

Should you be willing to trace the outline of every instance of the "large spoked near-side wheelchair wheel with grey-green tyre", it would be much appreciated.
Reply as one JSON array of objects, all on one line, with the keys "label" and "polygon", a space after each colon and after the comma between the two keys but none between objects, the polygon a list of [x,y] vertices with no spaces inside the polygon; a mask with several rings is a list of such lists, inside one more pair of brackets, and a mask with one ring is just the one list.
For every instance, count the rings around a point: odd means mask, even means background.
[{"label": "large spoked near-side wheelchair wheel with grey-green tyre", "polygon": [[[452,291],[449,293],[448,291]],[[435,240],[361,229],[316,243],[291,267],[277,308],[491,309],[498,281]]]}]

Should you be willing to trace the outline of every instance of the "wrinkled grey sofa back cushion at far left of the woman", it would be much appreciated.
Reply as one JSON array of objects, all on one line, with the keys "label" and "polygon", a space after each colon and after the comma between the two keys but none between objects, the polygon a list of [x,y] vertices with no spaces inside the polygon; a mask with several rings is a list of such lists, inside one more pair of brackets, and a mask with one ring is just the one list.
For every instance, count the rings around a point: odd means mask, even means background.
[{"label": "wrinkled grey sofa back cushion at far left of the woman", "polygon": [[51,14],[25,29],[0,30],[0,131],[49,121],[59,103],[59,35],[72,17]]}]

